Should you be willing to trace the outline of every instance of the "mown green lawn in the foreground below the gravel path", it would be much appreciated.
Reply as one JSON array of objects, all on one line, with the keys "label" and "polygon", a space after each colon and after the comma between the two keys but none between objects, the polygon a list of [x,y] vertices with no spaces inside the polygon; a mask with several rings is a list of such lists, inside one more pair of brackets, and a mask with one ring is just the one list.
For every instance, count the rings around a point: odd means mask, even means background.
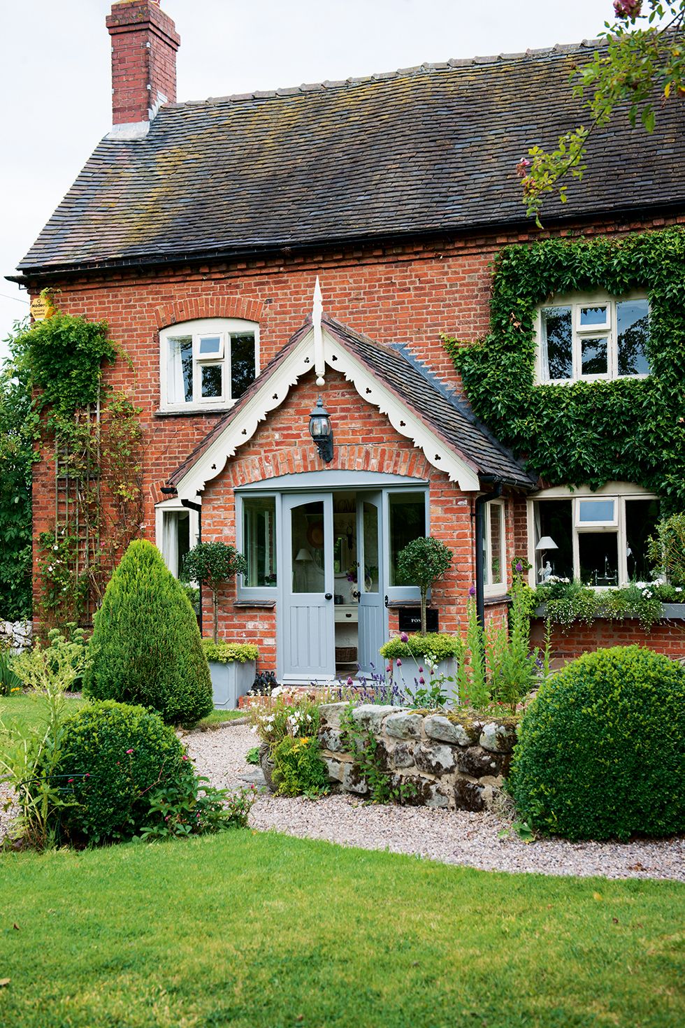
[{"label": "mown green lawn in the foreground below the gravel path", "polygon": [[0,1024],[680,1028],[684,898],[250,831],[6,853]]}]

